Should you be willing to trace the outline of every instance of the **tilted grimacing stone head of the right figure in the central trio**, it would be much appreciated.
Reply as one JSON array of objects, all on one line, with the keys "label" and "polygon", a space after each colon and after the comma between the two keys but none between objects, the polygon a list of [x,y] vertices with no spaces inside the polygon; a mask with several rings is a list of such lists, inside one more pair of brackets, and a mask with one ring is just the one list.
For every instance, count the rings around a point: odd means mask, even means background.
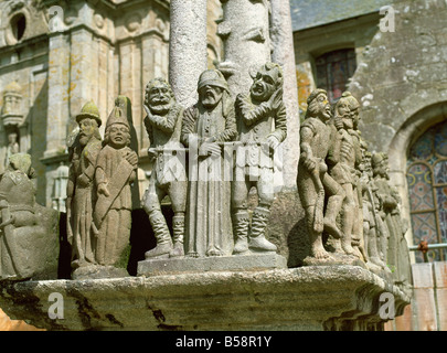
[{"label": "tilted grimacing stone head of the right figure in the central trio", "polygon": [[272,95],[283,87],[283,68],[276,63],[266,63],[253,77],[253,85],[249,89],[252,99],[266,101]]}]

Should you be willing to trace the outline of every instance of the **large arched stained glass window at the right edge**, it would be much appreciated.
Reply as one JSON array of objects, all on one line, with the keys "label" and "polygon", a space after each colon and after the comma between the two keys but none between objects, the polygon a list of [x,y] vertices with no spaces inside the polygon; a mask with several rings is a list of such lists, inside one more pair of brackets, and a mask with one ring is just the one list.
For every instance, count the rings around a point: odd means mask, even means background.
[{"label": "large arched stained glass window at the right edge", "polygon": [[[447,243],[447,122],[428,129],[413,143],[406,178],[414,244]],[[446,260],[447,249],[430,249],[428,259]],[[424,261],[421,253],[416,261]]]}]

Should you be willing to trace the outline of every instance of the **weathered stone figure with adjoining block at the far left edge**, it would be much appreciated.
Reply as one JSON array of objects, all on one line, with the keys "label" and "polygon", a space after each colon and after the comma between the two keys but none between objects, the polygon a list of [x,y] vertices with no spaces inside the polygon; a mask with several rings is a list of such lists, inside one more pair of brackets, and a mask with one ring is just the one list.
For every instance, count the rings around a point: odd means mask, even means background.
[{"label": "weathered stone figure with adjoining block at the far left edge", "polygon": [[11,156],[0,180],[0,280],[57,278],[57,212],[35,203],[33,178],[31,156]]}]

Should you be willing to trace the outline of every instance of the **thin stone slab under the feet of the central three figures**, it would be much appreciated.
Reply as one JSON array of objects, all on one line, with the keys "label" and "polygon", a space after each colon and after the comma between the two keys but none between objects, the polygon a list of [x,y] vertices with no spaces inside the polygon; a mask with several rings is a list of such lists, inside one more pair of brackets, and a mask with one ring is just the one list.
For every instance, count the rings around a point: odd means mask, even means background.
[{"label": "thin stone slab under the feet of the central three figures", "polygon": [[287,259],[277,254],[201,258],[167,258],[138,263],[139,276],[210,271],[255,271],[287,268]]}]

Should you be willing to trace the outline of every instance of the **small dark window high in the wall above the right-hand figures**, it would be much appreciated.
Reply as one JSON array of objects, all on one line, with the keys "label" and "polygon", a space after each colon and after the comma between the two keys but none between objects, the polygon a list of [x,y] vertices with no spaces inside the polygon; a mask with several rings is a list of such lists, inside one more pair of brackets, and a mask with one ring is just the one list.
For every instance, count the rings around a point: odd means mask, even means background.
[{"label": "small dark window high in the wall above the right-hand figures", "polygon": [[353,49],[343,49],[326,53],[316,60],[317,87],[328,92],[328,98],[334,103],[347,89],[349,78],[355,72],[356,60]]}]

